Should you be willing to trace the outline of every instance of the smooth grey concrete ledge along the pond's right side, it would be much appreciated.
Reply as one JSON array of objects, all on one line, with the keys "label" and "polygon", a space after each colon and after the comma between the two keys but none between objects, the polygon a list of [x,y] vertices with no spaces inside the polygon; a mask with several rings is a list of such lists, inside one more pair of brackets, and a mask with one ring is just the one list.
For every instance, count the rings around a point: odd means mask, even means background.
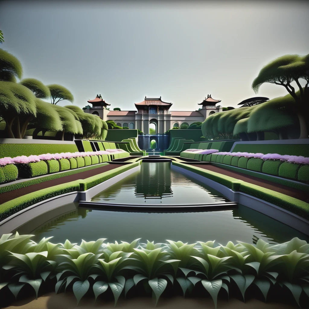
[{"label": "smooth grey concrete ledge along the pond's right side", "polygon": [[309,235],[309,221],[298,216],[297,214],[293,214],[292,212],[285,210],[277,205],[268,203],[259,198],[250,196],[248,194],[232,191],[230,188],[227,188],[223,184],[219,184],[214,180],[210,180],[205,176],[198,175],[183,167],[172,165],[171,168],[174,169],[175,171],[179,171],[182,174],[192,177],[195,180],[202,182],[203,184],[210,186],[211,188],[220,192],[230,201],[238,202],[241,205],[256,210],[261,214],[265,214],[270,218],[273,218],[290,227],[293,227],[295,230],[300,231],[305,235]]}]

